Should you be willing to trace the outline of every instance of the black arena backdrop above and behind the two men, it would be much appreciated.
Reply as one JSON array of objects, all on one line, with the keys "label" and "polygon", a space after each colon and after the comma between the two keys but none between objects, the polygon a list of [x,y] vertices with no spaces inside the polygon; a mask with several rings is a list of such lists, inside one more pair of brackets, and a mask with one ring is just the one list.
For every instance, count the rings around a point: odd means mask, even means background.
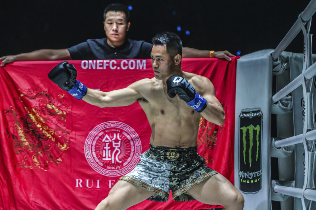
[{"label": "black arena backdrop above and behind the two men", "polygon": [[[151,42],[161,31],[176,32],[183,46],[245,55],[276,48],[303,1],[1,1],[0,57],[36,49],[68,48],[105,37],[103,11],[109,3],[131,5],[131,39]],[[176,12],[173,15],[173,11]],[[182,31],[177,31],[181,26]],[[190,35],[185,34],[190,31]],[[311,33],[315,27],[311,27]],[[302,32],[286,51],[302,53]]]}]

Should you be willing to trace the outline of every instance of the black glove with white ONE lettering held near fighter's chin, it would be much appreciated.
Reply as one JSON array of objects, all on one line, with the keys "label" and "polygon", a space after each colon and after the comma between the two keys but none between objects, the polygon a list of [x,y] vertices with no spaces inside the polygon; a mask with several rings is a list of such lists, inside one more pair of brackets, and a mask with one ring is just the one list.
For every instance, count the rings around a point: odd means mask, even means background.
[{"label": "black glove with white ONE lettering held near fighter's chin", "polygon": [[207,106],[207,100],[198,94],[184,77],[173,75],[167,79],[167,93],[170,98],[176,95],[190,105],[195,111],[202,112]]}]

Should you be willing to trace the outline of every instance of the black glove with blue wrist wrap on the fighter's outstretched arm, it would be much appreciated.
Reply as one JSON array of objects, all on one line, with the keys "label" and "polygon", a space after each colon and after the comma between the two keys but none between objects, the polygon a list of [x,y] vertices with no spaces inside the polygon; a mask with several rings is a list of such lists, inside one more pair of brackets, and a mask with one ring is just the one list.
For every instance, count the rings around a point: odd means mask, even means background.
[{"label": "black glove with blue wrist wrap on the fighter's outstretched arm", "polygon": [[60,88],[70,93],[76,99],[82,99],[87,94],[87,87],[76,80],[77,70],[67,61],[56,65],[49,73],[48,78]]}]

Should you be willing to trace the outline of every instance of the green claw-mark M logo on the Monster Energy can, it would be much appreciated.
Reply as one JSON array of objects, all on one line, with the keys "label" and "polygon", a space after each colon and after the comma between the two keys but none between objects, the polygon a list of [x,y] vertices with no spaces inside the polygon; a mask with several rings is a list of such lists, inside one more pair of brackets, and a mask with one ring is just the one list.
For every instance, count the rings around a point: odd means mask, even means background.
[{"label": "green claw-mark M logo on the Monster Energy can", "polygon": [[259,131],[260,131],[260,126],[257,125],[254,127],[253,125],[249,125],[248,127],[242,127],[240,128],[242,130],[242,141],[244,143],[244,150],[243,150],[243,155],[244,155],[244,163],[246,165],[246,132],[247,129],[249,130],[249,168],[251,167],[251,161],[252,161],[252,146],[253,146],[253,130],[257,131],[256,135],[256,140],[257,140],[257,154],[256,154],[256,161],[258,161],[258,154],[259,154]]}]

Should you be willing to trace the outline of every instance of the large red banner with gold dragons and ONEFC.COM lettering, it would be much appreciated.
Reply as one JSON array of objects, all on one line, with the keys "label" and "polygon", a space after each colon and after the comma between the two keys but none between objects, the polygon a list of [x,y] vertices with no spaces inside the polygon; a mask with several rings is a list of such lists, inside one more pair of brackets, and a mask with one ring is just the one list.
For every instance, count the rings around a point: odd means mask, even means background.
[{"label": "large red banner with gold dragons and ONEFC.COM lettering", "polygon": [[[210,78],[226,121],[201,120],[198,151],[233,182],[236,61],[183,59],[183,71]],[[92,209],[149,148],[151,130],[138,102],[99,108],[53,84],[60,61],[0,68],[0,208]],[[111,91],[154,77],[150,60],[70,61],[89,88]],[[206,209],[198,201],[143,201],[129,209]]]}]

